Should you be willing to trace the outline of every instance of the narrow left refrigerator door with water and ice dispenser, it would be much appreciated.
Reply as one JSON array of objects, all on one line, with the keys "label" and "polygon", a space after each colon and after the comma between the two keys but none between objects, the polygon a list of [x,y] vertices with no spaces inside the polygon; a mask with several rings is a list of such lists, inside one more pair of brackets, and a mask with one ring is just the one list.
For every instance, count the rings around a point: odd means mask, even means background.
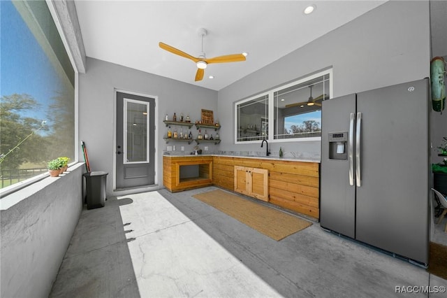
[{"label": "narrow left refrigerator door with water and ice dispenser", "polygon": [[[356,189],[353,181],[355,164],[352,155],[355,152],[355,132],[351,118],[355,113],[356,94],[323,101],[321,108],[320,224],[321,227],[351,238],[355,236],[356,220]],[[334,142],[334,136],[341,133],[347,133],[348,136],[344,148],[340,147],[342,142]],[[334,142],[332,148],[331,141]],[[342,155],[342,149],[346,155]]]}]

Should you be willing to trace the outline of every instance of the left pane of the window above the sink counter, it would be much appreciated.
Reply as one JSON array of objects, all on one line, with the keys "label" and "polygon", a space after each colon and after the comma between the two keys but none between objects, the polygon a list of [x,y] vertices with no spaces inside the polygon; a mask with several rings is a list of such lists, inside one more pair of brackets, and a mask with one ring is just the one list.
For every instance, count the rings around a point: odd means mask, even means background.
[{"label": "left pane of the window above the sink counter", "polygon": [[268,139],[268,94],[236,105],[236,141]]}]

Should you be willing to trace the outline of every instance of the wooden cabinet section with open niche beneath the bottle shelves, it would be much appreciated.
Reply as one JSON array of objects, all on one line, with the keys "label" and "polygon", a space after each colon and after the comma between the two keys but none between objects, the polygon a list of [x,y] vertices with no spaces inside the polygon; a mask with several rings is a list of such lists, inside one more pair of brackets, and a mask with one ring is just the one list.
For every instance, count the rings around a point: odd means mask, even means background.
[{"label": "wooden cabinet section with open niche beneath the bottle shelves", "polygon": [[171,192],[212,185],[212,156],[163,156],[163,185]]}]

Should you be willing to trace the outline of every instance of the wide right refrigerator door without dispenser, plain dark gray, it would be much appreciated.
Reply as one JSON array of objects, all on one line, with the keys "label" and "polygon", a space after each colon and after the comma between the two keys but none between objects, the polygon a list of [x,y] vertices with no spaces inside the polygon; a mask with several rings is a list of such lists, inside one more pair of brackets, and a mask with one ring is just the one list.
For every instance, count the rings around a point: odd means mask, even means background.
[{"label": "wide right refrigerator door without dispenser, plain dark gray", "polygon": [[428,80],[357,94],[361,113],[356,239],[428,259]]}]

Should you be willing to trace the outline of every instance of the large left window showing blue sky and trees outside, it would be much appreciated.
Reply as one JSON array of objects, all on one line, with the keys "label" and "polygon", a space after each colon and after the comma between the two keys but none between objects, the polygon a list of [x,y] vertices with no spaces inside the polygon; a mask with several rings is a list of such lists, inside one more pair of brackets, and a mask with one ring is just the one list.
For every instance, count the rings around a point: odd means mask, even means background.
[{"label": "large left window showing blue sky and trees outside", "polygon": [[75,161],[75,71],[45,1],[0,1],[0,187]]}]

